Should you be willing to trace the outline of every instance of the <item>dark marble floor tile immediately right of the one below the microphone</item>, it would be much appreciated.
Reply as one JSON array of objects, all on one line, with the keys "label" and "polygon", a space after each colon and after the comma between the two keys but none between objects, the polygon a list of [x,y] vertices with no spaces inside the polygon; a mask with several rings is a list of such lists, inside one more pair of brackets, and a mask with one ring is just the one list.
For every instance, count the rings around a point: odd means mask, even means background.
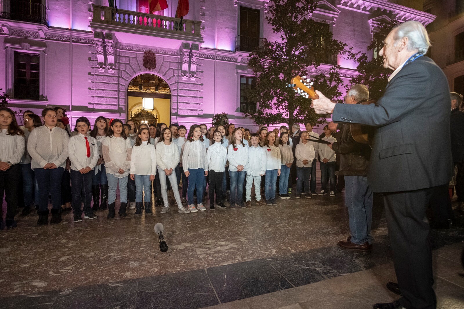
[{"label": "dark marble floor tile immediately right of the one below the microphone", "polygon": [[293,287],[264,259],[208,268],[221,303]]}]

